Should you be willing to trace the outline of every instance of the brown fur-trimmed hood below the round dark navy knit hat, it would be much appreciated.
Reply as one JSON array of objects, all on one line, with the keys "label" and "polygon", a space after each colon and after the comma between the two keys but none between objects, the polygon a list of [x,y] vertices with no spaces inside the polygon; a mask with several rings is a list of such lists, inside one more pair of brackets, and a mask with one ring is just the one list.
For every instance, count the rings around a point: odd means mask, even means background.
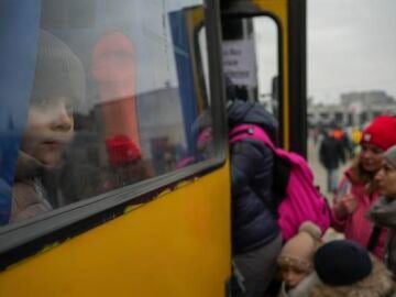
[{"label": "brown fur-trimmed hood below the round dark navy knit hat", "polygon": [[383,263],[371,256],[373,270],[364,279],[350,286],[330,286],[319,283],[310,297],[392,297],[396,292],[391,272]]}]

